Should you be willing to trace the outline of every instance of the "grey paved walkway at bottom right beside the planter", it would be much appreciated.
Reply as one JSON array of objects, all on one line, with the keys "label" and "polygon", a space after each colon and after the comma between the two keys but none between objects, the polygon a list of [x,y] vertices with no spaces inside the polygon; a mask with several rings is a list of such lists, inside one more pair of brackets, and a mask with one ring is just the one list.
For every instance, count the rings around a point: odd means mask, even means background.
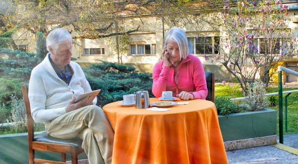
[{"label": "grey paved walkway at bottom right beside the planter", "polygon": [[[294,152],[298,154],[298,134],[285,135],[284,145],[295,148]],[[298,164],[297,155],[273,146],[229,151],[226,155],[229,164]]]}]

